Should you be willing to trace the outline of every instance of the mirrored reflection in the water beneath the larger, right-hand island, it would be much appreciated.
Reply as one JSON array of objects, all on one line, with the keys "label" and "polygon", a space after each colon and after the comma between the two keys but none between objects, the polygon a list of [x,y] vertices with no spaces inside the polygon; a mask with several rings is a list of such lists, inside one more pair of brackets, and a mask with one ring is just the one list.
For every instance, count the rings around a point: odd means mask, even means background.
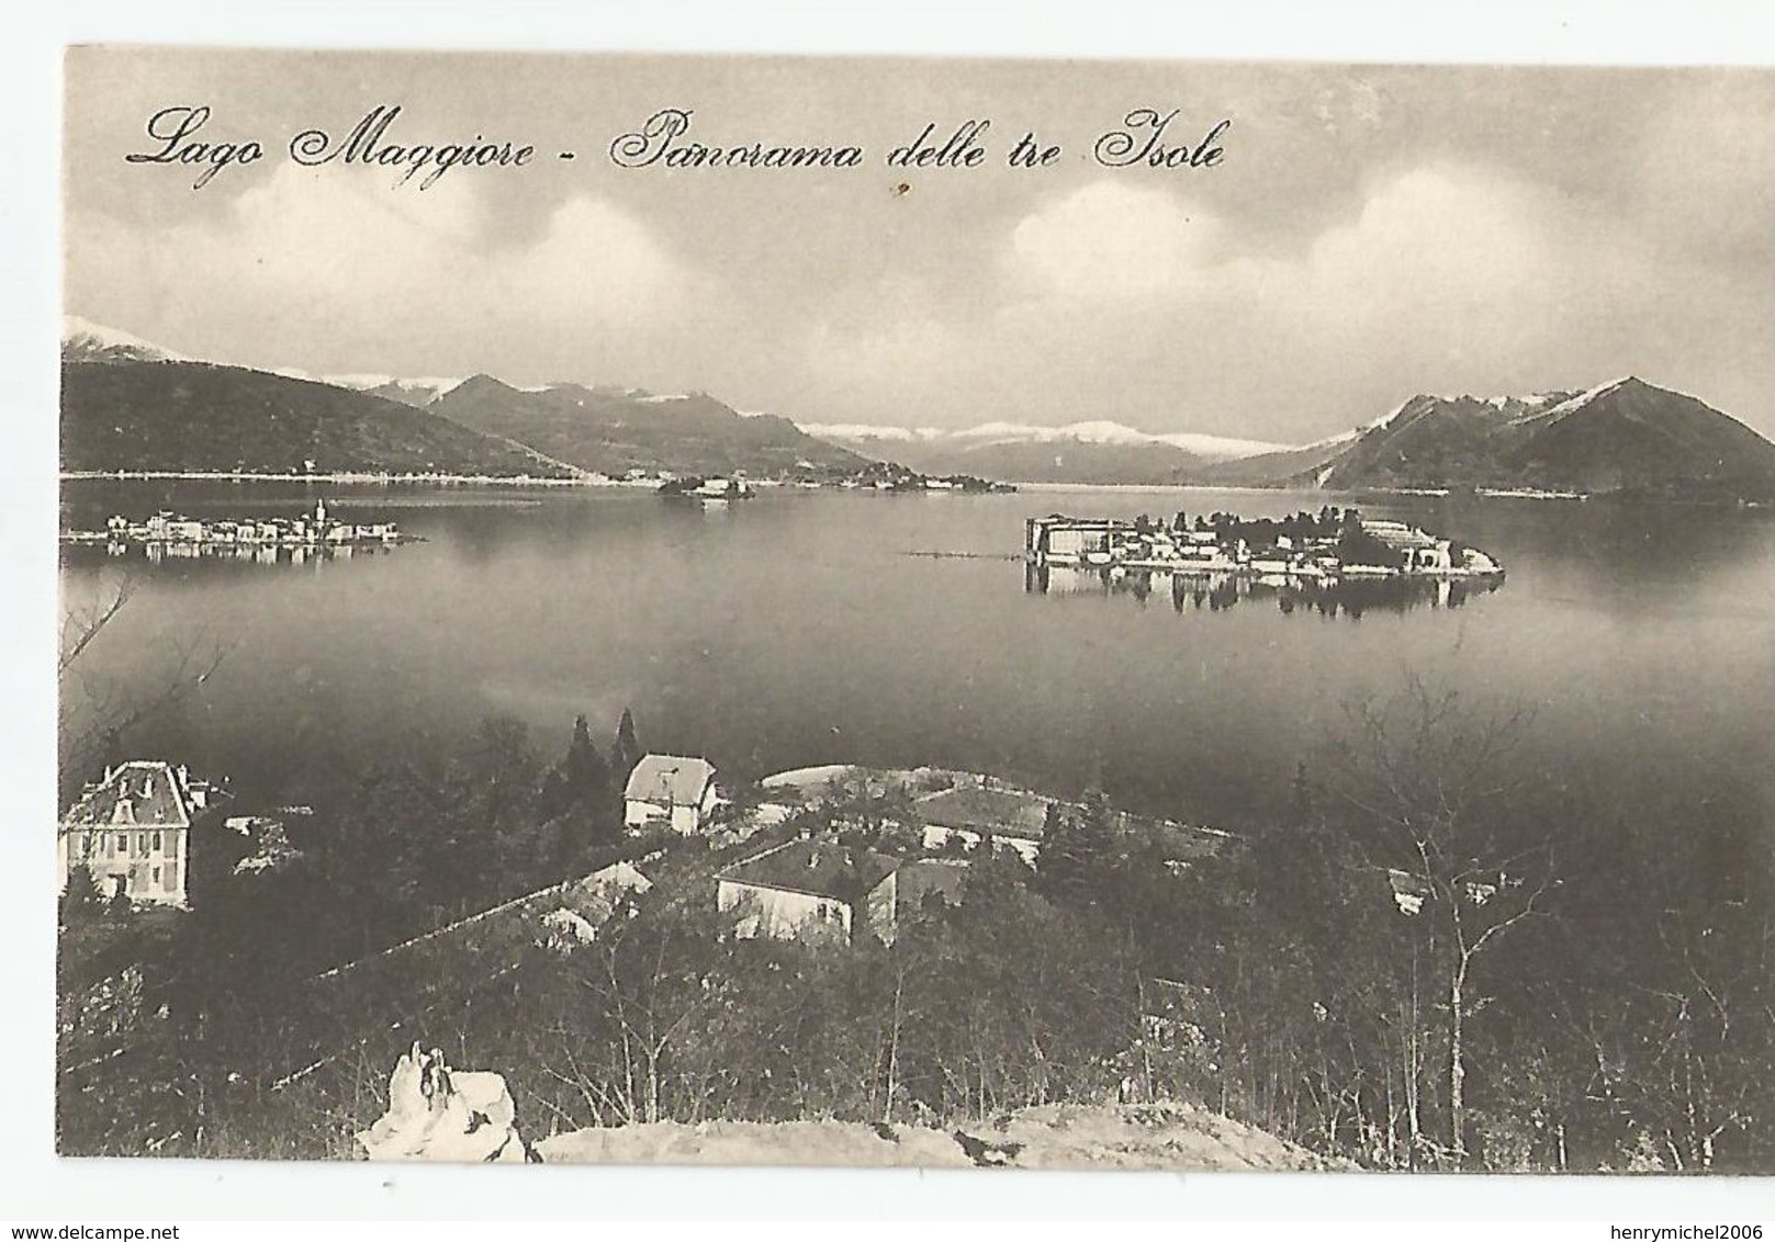
[{"label": "mirrored reflection in the water beneath the larger, right-hand island", "polygon": [[1237,603],[1274,603],[1283,616],[1314,614],[1360,621],[1365,612],[1409,612],[1413,609],[1459,609],[1477,594],[1489,594],[1502,578],[1303,578],[1294,575],[1173,573],[1164,570],[1100,570],[1026,564],[1022,589],[1030,594],[1131,596],[1141,607],[1168,591],[1175,612],[1225,612]]}]

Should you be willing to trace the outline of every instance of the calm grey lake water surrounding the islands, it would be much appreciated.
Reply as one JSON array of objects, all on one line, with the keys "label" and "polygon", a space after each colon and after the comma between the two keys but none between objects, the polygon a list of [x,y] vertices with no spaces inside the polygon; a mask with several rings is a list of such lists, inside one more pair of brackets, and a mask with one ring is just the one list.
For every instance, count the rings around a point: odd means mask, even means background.
[{"label": "calm grey lake water surrounding the islands", "polygon": [[[293,515],[300,484],[71,484],[64,525],[156,507]],[[616,490],[327,488],[357,522],[424,536],[307,564],[64,550],[69,603],[122,571],[137,591],[83,658],[91,688],[146,694],[179,642],[220,669],[131,751],[245,793],[300,795],[316,765],[447,747],[513,715],[550,758],[573,715],[758,775],[809,763],[994,770],[1237,825],[1274,811],[1347,710],[1411,674],[1487,710],[1526,708],[1521,775],[1626,795],[1681,823],[1775,823],[1775,515],[1399,497],[1500,557],[1459,607],[1285,610],[1030,589],[1026,516],[1230,509],[1335,497],[1067,490],[996,497],[767,493],[699,507]],[[912,554],[967,554],[912,555]],[[78,711],[83,690],[64,710]]]}]

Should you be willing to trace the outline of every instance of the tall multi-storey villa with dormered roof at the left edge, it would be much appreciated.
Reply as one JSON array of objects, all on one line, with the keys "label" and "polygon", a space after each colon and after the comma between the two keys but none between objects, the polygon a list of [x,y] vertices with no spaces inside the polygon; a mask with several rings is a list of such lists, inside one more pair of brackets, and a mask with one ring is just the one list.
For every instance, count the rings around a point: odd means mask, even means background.
[{"label": "tall multi-storey villa with dormered roof at the left edge", "polygon": [[57,889],[85,866],[101,896],[138,905],[186,905],[192,825],[225,797],[183,765],[135,759],[89,784],[62,816]]}]

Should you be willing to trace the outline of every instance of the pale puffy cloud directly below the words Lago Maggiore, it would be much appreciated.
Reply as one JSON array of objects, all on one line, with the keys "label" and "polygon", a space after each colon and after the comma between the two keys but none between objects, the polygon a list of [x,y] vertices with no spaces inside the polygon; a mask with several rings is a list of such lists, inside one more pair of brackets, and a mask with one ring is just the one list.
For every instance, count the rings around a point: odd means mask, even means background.
[{"label": "pale puffy cloud directly below the words Lago Maggiore", "polygon": [[[67,220],[71,309],[259,366],[380,371],[390,350],[428,373],[497,366],[476,360],[490,337],[561,348],[644,334],[699,286],[644,224],[584,193],[534,238],[501,245],[476,186],[449,177],[389,190],[289,163],[220,218],[181,220],[147,245],[105,215]],[[288,353],[314,342],[334,362]]]}]

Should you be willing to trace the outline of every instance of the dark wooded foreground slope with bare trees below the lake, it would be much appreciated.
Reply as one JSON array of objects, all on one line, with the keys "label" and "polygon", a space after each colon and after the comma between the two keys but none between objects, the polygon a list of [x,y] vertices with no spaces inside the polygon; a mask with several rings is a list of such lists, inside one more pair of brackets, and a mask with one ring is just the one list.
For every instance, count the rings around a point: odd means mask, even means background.
[{"label": "dark wooded foreground slope with bare trees below the lake", "polygon": [[[442,766],[288,791],[314,806],[300,857],[209,878],[190,916],[64,907],[60,1150],[350,1155],[421,1038],[497,1066],[532,1137],[1175,1100],[1367,1167],[1766,1169],[1755,786],[1684,832],[1599,790],[1541,820],[1496,781],[1514,742],[1406,694],[1218,853],[1177,864],[1100,797],[1054,804],[1038,869],[951,855],[958,905],[847,947],[735,939],[714,876],[785,834],[918,857],[911,791],[832,786],[744,845],[630,839],[632,726],[609,751],[580,726],[548,763],[490,722]],[[570,953],[501,923],[362,994],[316,981],[619,855],[653,889]]]}]

